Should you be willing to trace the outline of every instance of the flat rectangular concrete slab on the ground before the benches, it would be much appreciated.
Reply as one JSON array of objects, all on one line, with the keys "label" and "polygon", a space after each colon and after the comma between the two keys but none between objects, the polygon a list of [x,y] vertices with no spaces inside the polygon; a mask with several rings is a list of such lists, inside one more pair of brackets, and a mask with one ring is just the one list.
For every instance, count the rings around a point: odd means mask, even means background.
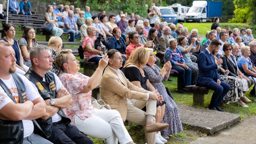
[{"label": "flat rectangular concrete slab on the ground before the benches", "polygon": [[176,103],[179,108],[180,120],[183,125],[188,125],[195,131],[214,134],[240,121],[240,116],[228,112],[219,112],[206,108],[188,106]]}]

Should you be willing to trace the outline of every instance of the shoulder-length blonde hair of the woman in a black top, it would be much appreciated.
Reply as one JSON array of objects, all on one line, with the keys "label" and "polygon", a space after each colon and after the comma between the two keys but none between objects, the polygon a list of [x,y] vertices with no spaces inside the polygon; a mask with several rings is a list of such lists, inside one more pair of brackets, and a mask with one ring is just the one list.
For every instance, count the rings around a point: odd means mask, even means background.
[{"label": "shoulder-length blonde hair of the woman in a black top", "polygon": [[138,47],[132,52],[132,54],[124,64],[124,67],[128,63],[132,63],[132,64],[137,64],[139,68],[142,68],[142,66],[145,66],[147,64],[148,58],[149,58],[149,51],[146,50],[144,47]]}]

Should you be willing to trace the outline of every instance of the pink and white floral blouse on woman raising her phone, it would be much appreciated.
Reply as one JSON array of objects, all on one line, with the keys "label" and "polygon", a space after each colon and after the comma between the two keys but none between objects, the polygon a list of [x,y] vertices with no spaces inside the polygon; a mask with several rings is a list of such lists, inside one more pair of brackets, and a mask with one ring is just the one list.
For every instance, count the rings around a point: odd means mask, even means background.
[{"label": "pink and white floral blouse on woman raising her phone", "polygon": [[90,77],[77,72],[75,75],[60,72],[60,81],[72,96],[73,103],[71,106],[63,109],[63,112],[71,119],[71,124],[75,124],[75,115],[81,120],[85,120],[94,116],[94,108],[92,106],[92,91],[84,94],[78,94],[88,84]]}]

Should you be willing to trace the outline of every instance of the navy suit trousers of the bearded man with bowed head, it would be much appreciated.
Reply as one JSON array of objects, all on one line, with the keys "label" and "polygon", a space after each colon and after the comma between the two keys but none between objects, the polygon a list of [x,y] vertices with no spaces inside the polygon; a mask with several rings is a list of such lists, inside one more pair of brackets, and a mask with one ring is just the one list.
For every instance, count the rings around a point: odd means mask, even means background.
[{"label": "navy suit trousers of the bearded man with bowed head", "polygon": [[204,86],[206,88],[214,90],[214,93],[212,94],[212,99],[211,99],[211,102],[210,102],[210,106],[219,106],[221,101],[223,100],[224,96],[230,90],[230,85],[227,84],[224,81],[221,81],[220,84],[218,84],[214,80],[211,80],[210,82],[208,82]]}]

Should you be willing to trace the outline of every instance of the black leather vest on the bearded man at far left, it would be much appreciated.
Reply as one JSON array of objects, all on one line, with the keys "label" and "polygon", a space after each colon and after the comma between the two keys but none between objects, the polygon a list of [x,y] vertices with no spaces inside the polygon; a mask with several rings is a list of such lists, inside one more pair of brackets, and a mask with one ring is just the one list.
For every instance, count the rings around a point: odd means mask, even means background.
[{"label": "black leather vest on the bearded man at far left", "polygon": [[[18,89],[19,96],[16,98],[19,98],[20,102],[23,103],[24,99],[23,97],[26,97],[26,87],[23,83],[22,79],[18,74],[14,73],[12,74],[12,77],[14,79],[14,82],[16,84],[16,87]],[[2,82],[0,79],[0,86],[4,89],[4,92],[8,95],[8,97],[16,103],[15,99],[13,98],[11,92],[6,87],[6,85]],[[44,132],[42,132],[42,129],[38,125],[38,123],[35,120],[32,120],[34,123],[34,128],[37,128],[40,133],[43,135]],[[23,123],[22,120],[19,121],[12,121],[12,120],[1,120],[0,119],[0,143],[4,144],[22,144],[23,143]]]}]

